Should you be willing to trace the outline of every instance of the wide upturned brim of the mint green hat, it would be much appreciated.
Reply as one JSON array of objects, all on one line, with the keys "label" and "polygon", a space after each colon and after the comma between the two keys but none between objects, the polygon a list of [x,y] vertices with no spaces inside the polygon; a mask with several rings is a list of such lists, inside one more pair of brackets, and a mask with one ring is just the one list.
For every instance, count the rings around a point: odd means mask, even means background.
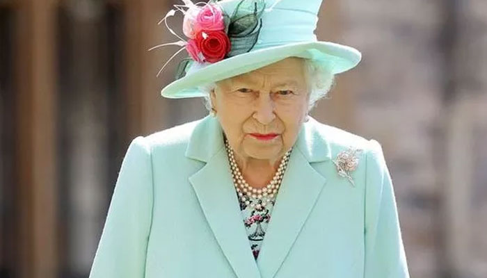
[{"label": "wide upturned brim of the mint green hat", "polygon": [[309,58],[322,63],[333,74],[351,70],[362,58],[362,54],[357,49],[335,42],[296,42],[266,47],[225,58],[186,74],[163,88],[161,95],[170,99],[203,97],[205,93],[198,89],[200,85],[257,70],[292,56]]}]

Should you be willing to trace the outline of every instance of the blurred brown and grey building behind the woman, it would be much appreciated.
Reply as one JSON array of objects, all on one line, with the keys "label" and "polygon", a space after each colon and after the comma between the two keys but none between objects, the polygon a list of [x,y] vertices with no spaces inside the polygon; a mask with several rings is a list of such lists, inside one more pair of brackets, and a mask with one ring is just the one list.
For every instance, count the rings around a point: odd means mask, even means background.
[{"label": "blurred brown and grey building behind the woman", "polygon": [[[147,51],[179,2],[0,0],[0,277],[88,277],[131,138],[207,114]],[[362,51],[312,115],[383,145],[411,277],[487,277],[487,1],[325,0],[316,33]]]}]

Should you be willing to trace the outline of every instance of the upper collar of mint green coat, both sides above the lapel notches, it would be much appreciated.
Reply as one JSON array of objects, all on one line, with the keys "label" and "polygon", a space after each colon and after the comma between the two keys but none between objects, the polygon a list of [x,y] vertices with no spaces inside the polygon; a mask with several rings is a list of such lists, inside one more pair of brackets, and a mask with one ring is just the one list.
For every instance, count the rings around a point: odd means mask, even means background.
[{"label": "upper collar of mint green coat, both sides above the lapel notches", "polygon": [[[319,129],[320,126],[324,125],[310,117],[310,120],[301,127],[296,139],[295,147],[310,163],[327,161],[331,158],[329,142],[326,140],[326,134]],[[216,117],[207,115],[193,129],[185,155],[198,161],[208,162],[221,148],[223,148],[221,125]]]}]

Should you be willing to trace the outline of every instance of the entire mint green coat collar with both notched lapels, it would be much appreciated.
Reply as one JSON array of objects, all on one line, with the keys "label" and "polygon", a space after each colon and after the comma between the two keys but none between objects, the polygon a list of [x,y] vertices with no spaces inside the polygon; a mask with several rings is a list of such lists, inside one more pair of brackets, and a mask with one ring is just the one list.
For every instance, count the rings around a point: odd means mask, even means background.
[{"label": "entire mint green coat collar with both notched lapels", "polygon": [[318,125],[319,122],[310,119],[298,135],[257,261],[241,218],[221,126],[211,116],[195,126],[186,156],[205,165],[192,174],[189,181],[237,277],[273,278],[312,211],[326,178],[314,170],[311,163],[330,159],[330,147],[322,139]]}]

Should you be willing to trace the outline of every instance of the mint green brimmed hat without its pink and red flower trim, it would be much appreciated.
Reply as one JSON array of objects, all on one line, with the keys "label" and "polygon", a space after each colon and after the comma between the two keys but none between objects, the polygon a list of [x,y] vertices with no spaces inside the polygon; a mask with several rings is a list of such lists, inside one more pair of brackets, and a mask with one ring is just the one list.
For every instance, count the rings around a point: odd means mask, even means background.
[{"label": "mint green brimmed hat without its pink and red flower trim", "polygon": [[[252,44],[243,53],[230,51],[232,56],[225,56],[215,63],[202,63],[191,60],[184,66],[181,78],[166,85],[161,95],[168,98],[203,97],[204,92],[198,86],[220,81],[232,76],[244,74],[264,67],[287,57],[309,58],[326,67],[331,73],[339,74],[358,65],[362,55],[360,51],[335,42],[318,41],[314,30],[317,26],[319,7],[322,0],[223,0],[213,1],[226,15],[237,17],[237,9],[242,2],[250,2],[257,12],[258,5],[263,5],[259,17],[259,26],[248,34]],[[188,3],[185,0],[184,3]],[[248,5],[248,3],[246,3]],[[166,16],[167,17],[167,16]],[[228,22],[226,19],[225,22]],[[172,31],[172,30],[171,30]],[[225,28],[228,31],[228,26]],[[173,31],[172,31],[173,32]],[[238,37],[238,36],[236,36]],[[231,47],[242,49],[248,40],[230,37]],[[183,44],[178,44],[183,45]],[[237,52],[237,54],[235,54]],[[240,51],[241,52],[241,51]]]}]

